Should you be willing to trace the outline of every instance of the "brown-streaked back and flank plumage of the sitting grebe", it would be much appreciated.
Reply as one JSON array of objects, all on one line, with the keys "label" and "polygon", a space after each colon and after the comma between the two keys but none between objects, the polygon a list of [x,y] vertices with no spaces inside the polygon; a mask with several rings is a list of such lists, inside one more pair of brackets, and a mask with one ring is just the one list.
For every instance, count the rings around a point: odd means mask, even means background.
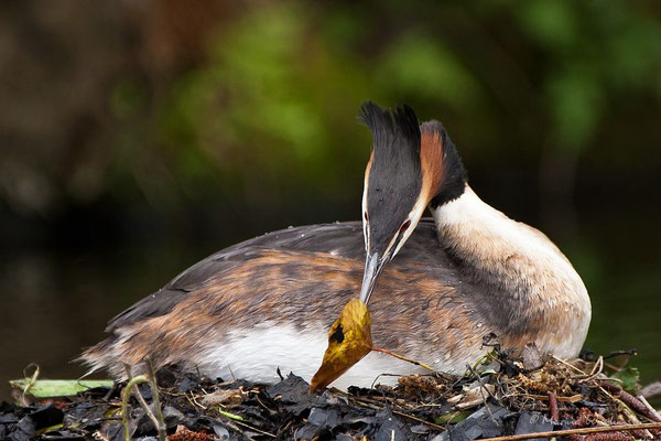
[{"label": "brown-streaked back and flank plumage of the sitting grebe", "polygon": [[[468,287],[436,244],[433,223],[421,222],[381,275],[370,304],[376,345],[427,358],[421,342],[434,342],[459,355],[489,332],[475,327],[480,318],[467,302]],[[156,366],[194,365],[196,348],[212,336],[221,340],[264,321],[328,327],[360,289],[364,252],[359,223],[285,229],[227,248],[113,319],[113,335],[83,359],[119,354],[101,365],[121,375],[122,362],[136,364],[147,355]]]}]

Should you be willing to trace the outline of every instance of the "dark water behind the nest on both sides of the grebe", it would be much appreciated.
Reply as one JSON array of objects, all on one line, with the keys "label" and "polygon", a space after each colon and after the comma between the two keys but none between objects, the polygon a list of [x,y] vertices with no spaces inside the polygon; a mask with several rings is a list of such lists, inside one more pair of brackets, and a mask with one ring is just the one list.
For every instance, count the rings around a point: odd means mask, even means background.
[{"label": "dark water behind the nest on both sides of the grebe", "polygon": [[[650,207],[652,209],[654,207]],[[586,346],[597,353],[632,348],[643,379],[661,378],[661,235],[650,235],[641,208],[621,219],[583,214],[572,237],[554,237],[582,273],[593,302]],[[257,233],[257,232],[256,232]],[[248,237],[243,237],[248,238]],[[239,238],[241,239],[241,238]],[[39,363],[43,376],[74,378],[80,348],[104,337],[106,322],[195,261],[231,245],[220,239],[182,247],[144,243],[95,250],[19,248],[0,260],[0,398],[7,380]]]}]

